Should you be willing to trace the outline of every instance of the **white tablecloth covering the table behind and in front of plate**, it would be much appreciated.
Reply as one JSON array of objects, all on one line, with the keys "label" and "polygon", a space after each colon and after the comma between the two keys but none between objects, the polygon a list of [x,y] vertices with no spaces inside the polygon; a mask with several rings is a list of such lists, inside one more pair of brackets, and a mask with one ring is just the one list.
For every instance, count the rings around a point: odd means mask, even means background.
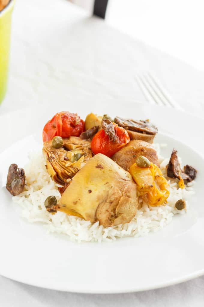
[{"label": "white tablecloth covering the table behind and in front of plate", "polygon": [[[146,102],[135,74],[151,70],[187,112],[203,117],[204,72],[91,18],[65,0],[18,0],[9,86],[0,115],[30,106]],[[29,130],[29,128],[27,127]],[[0,306],[203,306],[204,276],[140,293],[86,295],[0,277]]]}]

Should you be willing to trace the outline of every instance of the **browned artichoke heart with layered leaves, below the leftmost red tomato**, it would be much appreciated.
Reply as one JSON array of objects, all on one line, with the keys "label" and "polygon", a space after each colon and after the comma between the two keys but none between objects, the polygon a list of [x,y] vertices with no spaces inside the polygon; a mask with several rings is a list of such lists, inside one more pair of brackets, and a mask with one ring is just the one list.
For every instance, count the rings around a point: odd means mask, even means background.
[{"label": "browned artichoke heart with layered leaves, below the leftmost red tomato", "polygon": [[48,141],[44,142],[43,154],[52,179],[65,185],[92,157],[91,143],[71,136],[63,139],[61,148],[54,148],[52,141]]}]

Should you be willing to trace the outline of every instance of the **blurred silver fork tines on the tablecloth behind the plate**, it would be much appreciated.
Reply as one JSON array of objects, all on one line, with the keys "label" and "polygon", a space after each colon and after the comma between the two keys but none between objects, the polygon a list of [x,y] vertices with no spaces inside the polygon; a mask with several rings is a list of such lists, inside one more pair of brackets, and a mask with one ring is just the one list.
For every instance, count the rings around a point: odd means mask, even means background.
[{"label": "blurred silver fork tines on the tablecloth behind the plate", "polygon": [[150,103],[182,110],[180,105],[170,97],[160,81],[153,77],[150,72],[137,75],[136,80],[143,94]]}]

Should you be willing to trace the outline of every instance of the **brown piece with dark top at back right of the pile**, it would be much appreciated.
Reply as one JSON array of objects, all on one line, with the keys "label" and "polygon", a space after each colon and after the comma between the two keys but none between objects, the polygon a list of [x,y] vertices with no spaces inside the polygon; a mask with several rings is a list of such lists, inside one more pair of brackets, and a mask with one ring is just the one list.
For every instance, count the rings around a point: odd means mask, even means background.
[{"label": "brown piece with dark top at back right of the pile", "polygon": [[117,116],[114,122],[128,131],[131,140],[142,140],[152,144],[158,132],[157,127],[151,124],[149,120],[136,121]]}]

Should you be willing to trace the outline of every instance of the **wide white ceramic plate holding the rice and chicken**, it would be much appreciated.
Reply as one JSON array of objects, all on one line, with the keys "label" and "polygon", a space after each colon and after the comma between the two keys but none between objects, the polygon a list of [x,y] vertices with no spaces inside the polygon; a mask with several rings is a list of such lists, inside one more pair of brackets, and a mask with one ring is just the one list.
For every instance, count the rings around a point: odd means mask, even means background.
[{"label": "wide white ceramic plate holding the rice and chicken", "polygon": [[[119,107],[118,107],[119,106]],[[105,109],[106,107],[106,109]],[[23,139],[12,144],[0,155],[0,274],[14,280],[35,286],[82,293],[121,293],[148,290],[194,278],[204,274],[204,204],[202,195],[202,177],[204,159],[193,148],[195,138],[199,138],[199,120],[172,109],[132,105],[122,110],[107,106],[98,108],[98,113],[131,116],[136,119],[150,118],[158,125],[158,142],[168,143],[162,154],[169,156],[175,147],[184,164],[198,169],[195,191],[190,201],[191,210],[184,216],[174,216],[172,223],[157,233],[147,237],[118,239],[112,243],[72,243],[65,235],[50,234],[42,224],[30,224],[20,218],[20,208],[11,201],[11,195],[5,186],[6,174],[10,163],[20,167],[28,161],[28,152],[42,146],[39,133],[51,114],[41,110],[36,119],[36,110],[20,111],[1,117],[1,125],[9,131],[10,139]],[[61,110],[65,110],[62,106]],[[68,107],[66,107],[68,109]],[[81,110],[82,117],[91,106]],[[72,110],[73,111],[73,108]],[[104,112],[106,111],[106,112]],[[27,115],[26,116],[24,116]],[[32,116],[31,116],[32,115]],[[20,119],[22,125],[18,125]],[[191,130],[184,127],[191,119]],[[169,124],[168,124],[169,122]],[[27,127],[26,133],[24,127]],[[163,126],[163,129],[162,129]],[[194,128],[195,127],[195,128]],[[1,126],[0,126],[1,128]],[[35,129],[34,129],[35,128]],[[21,131],[21,132],[20,132]],[[176,134],[172,138],[171,134]],[[193,132],[194,135],[190,132]],[[4,146],[8,142],[1,136]],[[191,147],[177,139],[184,139]],[[202,139],[200,139],[202,142]],[[4,142],[5,141],[5,142]],[[198,148],[197,150],[202,150]]]}]

